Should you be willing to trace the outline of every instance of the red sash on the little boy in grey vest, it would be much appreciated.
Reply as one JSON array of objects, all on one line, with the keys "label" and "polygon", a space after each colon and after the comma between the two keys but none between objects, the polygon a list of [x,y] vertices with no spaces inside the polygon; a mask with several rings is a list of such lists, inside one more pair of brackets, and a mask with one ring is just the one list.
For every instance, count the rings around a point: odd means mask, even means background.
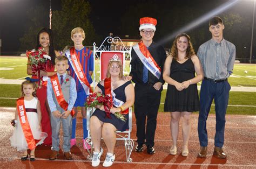
[{"label": "red sash on the little boy in grey vest", "polygon": [[[65,101],[57,74],[51,76],[51,85],[52,85],[53,93],[55,94],[55,97],[60,107],[63,108],[64,110],[68,110],[69,103]],[[73,115],[75,115],[75,111],[72,109],[70,114],[73,117]]]}]

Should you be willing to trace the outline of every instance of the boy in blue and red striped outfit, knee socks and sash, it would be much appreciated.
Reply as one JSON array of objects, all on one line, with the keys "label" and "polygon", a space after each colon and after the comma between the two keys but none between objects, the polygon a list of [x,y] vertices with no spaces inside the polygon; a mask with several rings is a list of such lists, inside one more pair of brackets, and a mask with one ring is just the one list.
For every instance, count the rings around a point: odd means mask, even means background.
[{"label": "boy in blue and red striped outfit, knee socks and sash", "polygon": [[[80,27],[76,27],[71,31],[71,39],[74,42],[74,46],[65,51],[66,57],[69,59],[68,69],[69,75],[76,81],[77,100],[74,105],[75,116],[72,119],[72,136],[71,147],[76,144],[76,116],[78,109],[81,107],[83,116],[83,139],[87,137],[86,129],[86,109],[85,102],[87,95],[91,93],[90,84],[92,83],[91,75],[93,72],[93,53],[89,49],[83,46],[83,40],[85,39],[84,30]],[[83,140],[83,144],[84,144]],[[87,147],[90,148],[88,144]],[[86,146],[84,145],[84,149]]]}]

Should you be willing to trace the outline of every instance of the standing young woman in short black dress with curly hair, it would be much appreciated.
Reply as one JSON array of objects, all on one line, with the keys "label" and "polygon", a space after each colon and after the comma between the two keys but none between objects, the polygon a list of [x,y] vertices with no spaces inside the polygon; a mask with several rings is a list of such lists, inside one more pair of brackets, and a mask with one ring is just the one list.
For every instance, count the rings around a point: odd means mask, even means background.
[{"label": "standing young woman in short black dress with curly hair", "polygon": [[[197,76],[195,76],[195,72]],[[188,155],[190,136],[190,116],[199,110],[197,83],[204,73],[197,55],[194,53],[190,37],[186,33],[178,34],[173,41],[171,54],[165,60],[163,78],[168,83],[164,111],[171,112],[171,135],[173,145],[170,154],[177,154],[179,119],[182,120],[183,146],[182,156]]]}]

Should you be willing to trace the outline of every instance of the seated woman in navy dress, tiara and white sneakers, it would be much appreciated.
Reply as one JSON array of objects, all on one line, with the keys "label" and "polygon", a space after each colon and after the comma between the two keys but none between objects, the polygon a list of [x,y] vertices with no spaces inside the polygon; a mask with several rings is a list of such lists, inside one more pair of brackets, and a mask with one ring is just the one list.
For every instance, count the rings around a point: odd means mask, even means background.
[{"label": "seated woman in navy dress, tiara and white sneakers", "polygon": [[112,96],[113,107],[110,109],[110,117],[106,116],[103,105],[98,105],[90,118],[90,130],[94,146],[92,166],[98,166],[103,149],[100,147],[100,140],[103,138],[107,154],[103,163],[104,167],[113,164],[114,146],[116,144],[115,131],[125,131],[129,128],[129,115],[125,114],[126,122],[114,116],[115,112],[128,112],[127,109],[134,103],[134,88],[131,81],[122,80],[123,66],[121,60],[116,56],[110,59],[107,67],[107,78],[100,81],[94,92]]}]

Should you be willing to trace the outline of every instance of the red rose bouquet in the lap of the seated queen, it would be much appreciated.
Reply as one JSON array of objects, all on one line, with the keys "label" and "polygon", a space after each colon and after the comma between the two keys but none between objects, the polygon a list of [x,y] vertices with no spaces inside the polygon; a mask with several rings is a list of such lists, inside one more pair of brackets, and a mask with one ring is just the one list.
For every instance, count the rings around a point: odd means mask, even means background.
[{"label": "red rose bouquet in the lap of the seated queen", "polygon": [[[103,105],[105,112],[106,112],[106,117],[111,118],[110,114],[110,109],[113,107],[113,103],[111,102],[111,97],[109,95],[102,95],[101,93],[93,93],[89,95],[86,99],[85,107],[96,107],[96,105]],[[123,114],[120,112],[115,112],[114,116],[119,118],[120,120],[126,122],[126,118],[124,117]]]}]

